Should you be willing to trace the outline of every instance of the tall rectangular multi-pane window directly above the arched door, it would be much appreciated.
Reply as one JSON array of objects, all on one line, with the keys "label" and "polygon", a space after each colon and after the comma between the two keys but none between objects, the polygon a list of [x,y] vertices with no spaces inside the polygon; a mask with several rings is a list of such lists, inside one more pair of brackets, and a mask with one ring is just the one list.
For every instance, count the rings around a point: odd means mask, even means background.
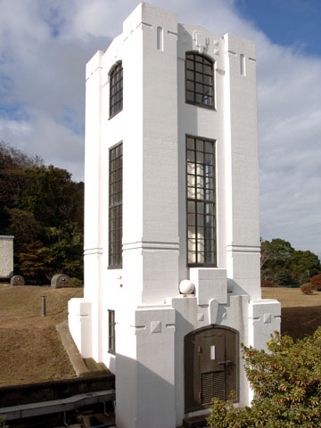
[{"label": "tall rectangular multi-pane window directly above the arched door", "polygon": [[216,267],[215,141],[186,136],[187,264]]}]

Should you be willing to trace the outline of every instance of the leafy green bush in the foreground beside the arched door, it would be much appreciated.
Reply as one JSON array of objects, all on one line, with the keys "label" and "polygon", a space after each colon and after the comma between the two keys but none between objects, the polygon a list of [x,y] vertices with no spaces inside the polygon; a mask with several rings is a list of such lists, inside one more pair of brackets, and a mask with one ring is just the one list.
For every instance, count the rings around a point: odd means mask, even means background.
[{"label": "leafy green bush in the foreground beside the arched door", "polygon": [[293,342],[278,333],[267,353],[243,346],[245,371],[254,391],[251,407],[213,399],[208,424],[217,428],[320,426],[321,327]]}]

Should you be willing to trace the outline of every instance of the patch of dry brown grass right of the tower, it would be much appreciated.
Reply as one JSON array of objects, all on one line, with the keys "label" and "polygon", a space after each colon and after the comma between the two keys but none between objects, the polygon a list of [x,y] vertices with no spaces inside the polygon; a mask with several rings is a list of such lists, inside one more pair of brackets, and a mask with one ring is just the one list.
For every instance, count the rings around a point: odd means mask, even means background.
[{"label": "patch of dry brown grass right of the tower", "polygon": [[301,339],[321,325],[321,292],[303,294],[300,288],[262,288],[263,299],[281,303],[281,333]]}]

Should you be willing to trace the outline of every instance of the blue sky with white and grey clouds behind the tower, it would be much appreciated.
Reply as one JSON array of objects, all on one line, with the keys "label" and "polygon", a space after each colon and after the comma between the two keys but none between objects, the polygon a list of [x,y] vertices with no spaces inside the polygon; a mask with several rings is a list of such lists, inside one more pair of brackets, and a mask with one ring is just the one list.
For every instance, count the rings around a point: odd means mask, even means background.
[{"label": "blue sky with white and grey clouds behind the tower", "polygon": [[[256,43],[261,236],[321,256],[321,0],[150,3]],[[136,4],[0,0],[0,141],[83,179],[85,64]]]}]

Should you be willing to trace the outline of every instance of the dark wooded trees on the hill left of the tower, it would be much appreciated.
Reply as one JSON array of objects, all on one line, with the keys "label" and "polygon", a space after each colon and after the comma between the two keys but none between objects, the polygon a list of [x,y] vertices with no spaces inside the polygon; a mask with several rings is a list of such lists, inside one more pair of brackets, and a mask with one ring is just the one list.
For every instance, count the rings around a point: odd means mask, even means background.
[{"label": "dark wooded trees on the hill left of the tower", "polygon": [[49,284],[56,273],[83,279],[84,184],[0,143],[0,235],[14,235],[14,274]]}]

